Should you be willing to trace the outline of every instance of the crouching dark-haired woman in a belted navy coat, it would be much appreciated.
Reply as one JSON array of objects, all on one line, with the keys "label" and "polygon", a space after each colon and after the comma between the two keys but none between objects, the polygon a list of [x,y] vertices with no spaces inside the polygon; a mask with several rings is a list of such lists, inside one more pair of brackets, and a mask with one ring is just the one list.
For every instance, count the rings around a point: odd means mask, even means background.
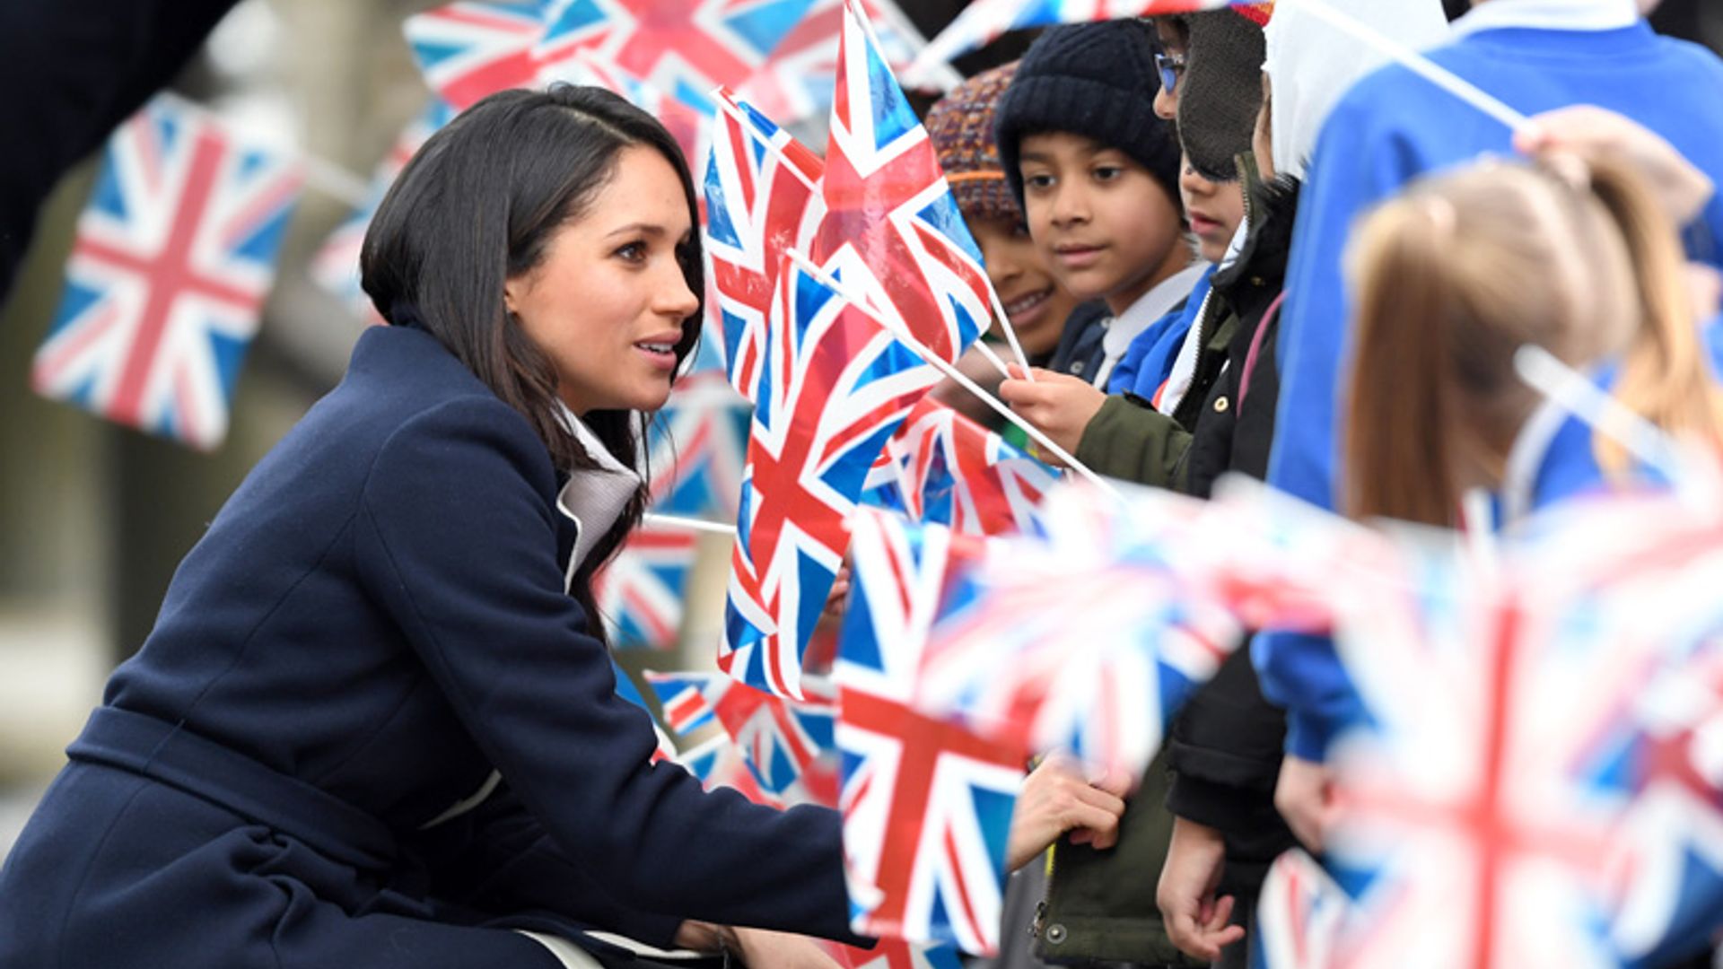
[{"label": "crouching dark-haired woman in a belted navy coat", "polygon": [[181,564],[0,874],[0,966],[849,938],[837,814],[651,764],[591,607],[698,334],[696,231],[675,143],[606,91],[500,93],[426,143],[364,247],[391,326]]}]

